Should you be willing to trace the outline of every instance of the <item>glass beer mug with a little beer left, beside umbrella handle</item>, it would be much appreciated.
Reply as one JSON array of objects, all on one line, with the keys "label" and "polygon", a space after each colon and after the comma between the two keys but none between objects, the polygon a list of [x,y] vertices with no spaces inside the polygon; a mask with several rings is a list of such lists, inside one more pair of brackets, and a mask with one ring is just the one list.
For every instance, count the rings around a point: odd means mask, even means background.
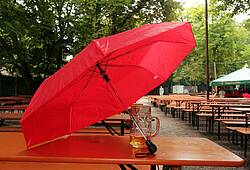
[{"label": "glass beer mug with a little beer left, beside umbrella handle", "polygon": [[[131,106],[131,114],[147,139],[151,139],[158,134],[160,129],[160,120],[158,117],[151,115],[150,106]],[[153,124],[155,124],[154,131],[152,126]],[[134,122],[130,129],[130,145],[134,148],[147,148],[145,139]]]}]

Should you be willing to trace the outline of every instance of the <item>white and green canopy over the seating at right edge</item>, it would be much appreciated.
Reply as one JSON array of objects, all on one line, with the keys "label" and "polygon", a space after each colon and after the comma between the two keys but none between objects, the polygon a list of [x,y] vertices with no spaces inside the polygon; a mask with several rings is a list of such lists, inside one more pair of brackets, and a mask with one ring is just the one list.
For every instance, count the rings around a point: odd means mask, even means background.
[{"label": "white and green canopy over the seating at right edge", "polygon": [[211,82],[212,86],[250,84],[250,69],[246,66]]}]

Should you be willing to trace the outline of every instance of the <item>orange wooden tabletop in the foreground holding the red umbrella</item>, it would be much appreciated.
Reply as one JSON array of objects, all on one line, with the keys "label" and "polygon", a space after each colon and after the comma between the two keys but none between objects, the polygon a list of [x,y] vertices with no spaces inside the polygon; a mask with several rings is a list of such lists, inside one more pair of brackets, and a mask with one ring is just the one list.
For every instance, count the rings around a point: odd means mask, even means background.
[{"label": "orange wooden tabletop in the foreground holding the red umbrella", "polygon": [[[181,166],[243,166],[245,161],[206,138],[155,137],[158,151],[136,158],[128,136],[73,134],[33,149],[26,149],[23,134],[0,133],[0,169],[6,163],[40,164],[133,164]],[[7,164],[8,165],[8,164]],[[154,167],[154,166],[153,166]]]}]

